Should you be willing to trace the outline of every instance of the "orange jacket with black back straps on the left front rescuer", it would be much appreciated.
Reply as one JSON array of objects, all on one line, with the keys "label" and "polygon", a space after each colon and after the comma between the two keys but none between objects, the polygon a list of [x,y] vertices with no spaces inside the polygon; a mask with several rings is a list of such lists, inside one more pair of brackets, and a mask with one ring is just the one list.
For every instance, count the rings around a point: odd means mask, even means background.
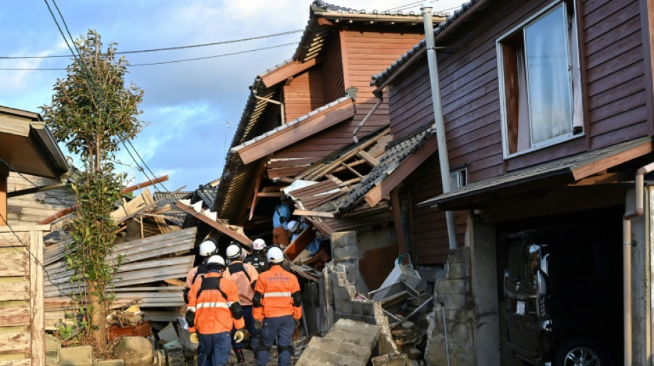
[{"label": "orange jacket with black back straps on the left front rescuer", "polygon": [[[220,273],[207,273],[209,277],[222,277]],[[220,279],[220,290],[227,295],[225,299],[219,290],[202,290],[198,299],[198,290],[202,286],[202,281],[196,281],[189,291],[188,310],[196,313],[195,326],[189,328],[189,332],[200,332],[200,334],[216,334],[222,332],[231,332],[232,328],[241,329],[245,326],[245,321],[235,320],[231,316],[229,306],[233,302],[238,302],[238,290],[236,284],[226,277]]]}]

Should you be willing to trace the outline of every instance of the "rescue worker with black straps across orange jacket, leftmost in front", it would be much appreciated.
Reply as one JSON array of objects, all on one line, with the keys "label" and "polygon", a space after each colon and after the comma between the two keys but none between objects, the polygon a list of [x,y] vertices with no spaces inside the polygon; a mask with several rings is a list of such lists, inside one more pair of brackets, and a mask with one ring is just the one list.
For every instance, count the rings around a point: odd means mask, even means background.
[{"label": "rescue worker with black straps across orange jacket, leftmost in front", "polygon": [[209,273],[193,284],[189,292],[186,321],[191,342],[200,343],[198,366],[225,366],[229,361],[231,330],[238,329],[234,335],[236,342],[244,337],[243,310],[236,284],[222,277],[225,260],[212,255],[207,268]]}]

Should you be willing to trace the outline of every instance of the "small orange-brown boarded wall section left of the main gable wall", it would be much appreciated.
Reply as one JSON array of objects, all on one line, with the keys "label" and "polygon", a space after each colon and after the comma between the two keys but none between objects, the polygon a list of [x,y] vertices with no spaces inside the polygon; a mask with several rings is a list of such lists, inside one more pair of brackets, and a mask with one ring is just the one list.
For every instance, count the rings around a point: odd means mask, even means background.
[{"label": "small orange-brown boarded wall section left of the main gable wall", "polygon": [[299,74],[284,85],[286,122],[306,115],[324,104],[322,78],[319,69]]}]

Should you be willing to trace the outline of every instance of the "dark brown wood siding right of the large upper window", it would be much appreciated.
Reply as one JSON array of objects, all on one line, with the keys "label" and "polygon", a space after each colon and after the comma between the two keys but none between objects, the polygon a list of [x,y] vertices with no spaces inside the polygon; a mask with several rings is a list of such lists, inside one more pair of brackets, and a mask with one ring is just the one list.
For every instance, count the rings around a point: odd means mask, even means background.
[{"label": "dark brown wood siding right of the large upper window", "polygon": [[648,135],[640,1],[582,8],[590,148]]}]

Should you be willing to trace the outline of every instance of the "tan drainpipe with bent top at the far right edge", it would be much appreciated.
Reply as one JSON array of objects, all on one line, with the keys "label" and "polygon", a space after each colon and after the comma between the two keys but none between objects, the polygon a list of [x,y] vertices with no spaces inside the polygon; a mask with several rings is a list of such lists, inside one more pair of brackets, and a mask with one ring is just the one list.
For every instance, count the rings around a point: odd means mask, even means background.
[{"label": "tan drainpipe with bent top at the far right edge", "polygon": [[636,171],[635,195],[636,202],[633,211],[622,216],[622,306],[624,307],[624,366],[632,365],[631,339],[631,219],[643,214],[644,207],[644,176],[654,170],[654,163],[649,163]]}]

